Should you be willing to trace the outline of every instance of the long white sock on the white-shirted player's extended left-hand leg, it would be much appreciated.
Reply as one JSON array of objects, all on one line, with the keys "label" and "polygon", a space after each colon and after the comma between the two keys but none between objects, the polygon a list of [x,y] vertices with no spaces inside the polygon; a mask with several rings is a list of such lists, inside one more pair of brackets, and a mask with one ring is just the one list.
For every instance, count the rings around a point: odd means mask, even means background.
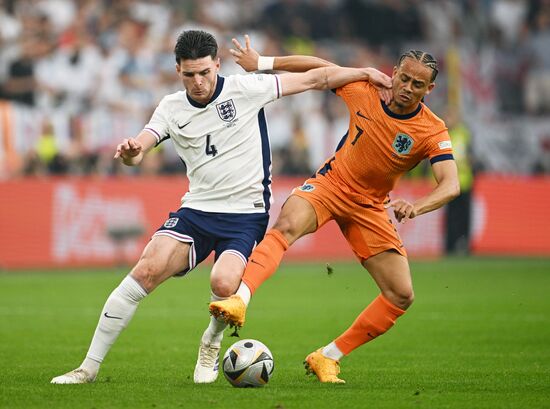
[{"label": "long white sock on the white-shirted player's extended left-hand leg", "polygon": [[95,375],[118,335],[128,325],[147,292],[129,275],[111,293],[101,311],[86,359],[80,366]]}]

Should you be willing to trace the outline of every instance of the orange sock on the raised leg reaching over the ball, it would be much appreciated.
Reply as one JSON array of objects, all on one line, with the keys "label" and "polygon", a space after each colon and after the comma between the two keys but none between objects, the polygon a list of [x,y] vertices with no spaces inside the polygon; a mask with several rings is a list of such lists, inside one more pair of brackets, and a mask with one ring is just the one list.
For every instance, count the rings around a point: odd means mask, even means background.
[{"label": "orange sock on the raised leg reaching over the ball", "polygon": [[242,278],[252,294],[277,270],[287,249],[288,242],[279,230],[266,233],[250,255]]}]

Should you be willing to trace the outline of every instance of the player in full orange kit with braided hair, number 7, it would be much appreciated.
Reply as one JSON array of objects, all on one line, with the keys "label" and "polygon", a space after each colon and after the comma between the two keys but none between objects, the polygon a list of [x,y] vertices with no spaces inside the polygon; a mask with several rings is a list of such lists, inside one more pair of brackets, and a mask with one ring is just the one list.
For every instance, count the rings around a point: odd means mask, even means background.
[{"label": "player in full orange kit with braided hair, number 7", "polygon": [[[307,56],[261,57],[250,48],[248,37],[245,47],[236,40],[234,44],[235,60],[249,71],[305,71],[331,65]],[[338,377],[340,359],[389,330],[413,302],[407,253],[386,209],[405,223],[460,193],[445,123],[422,102],[434,88],[437,72],[430,54],[411,50],[393,69],[388,105],[368,82],[336,90],[349,109],[350,122],[335,155],[294,189],[273,228],[250,256],[237,293],[210,304],[214,316],[241,327],[252,293],[276,271],[289,246],[335,220],[381,293],[343,334],[306,357],[307,371],[321,382],[344,383]],[[390,200],[397,180],[425,158],[430,160],[436,187],[414,203]]]}]

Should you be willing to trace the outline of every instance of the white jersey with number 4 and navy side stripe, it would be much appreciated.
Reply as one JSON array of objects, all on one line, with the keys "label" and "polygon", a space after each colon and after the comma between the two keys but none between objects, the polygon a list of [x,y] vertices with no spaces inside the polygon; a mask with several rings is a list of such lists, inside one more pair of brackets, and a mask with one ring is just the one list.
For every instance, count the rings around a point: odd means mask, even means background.
[{"label": "white jersey with number 4 and navy side stripe", "polygon": [[271,74],[218,76],[206,105],[185,91],[167,95],[145,130],[172,139],[187,166],[182,207],[205,212],[265,213],[271,197],[271,149],[263,107],[281,96]]}]

